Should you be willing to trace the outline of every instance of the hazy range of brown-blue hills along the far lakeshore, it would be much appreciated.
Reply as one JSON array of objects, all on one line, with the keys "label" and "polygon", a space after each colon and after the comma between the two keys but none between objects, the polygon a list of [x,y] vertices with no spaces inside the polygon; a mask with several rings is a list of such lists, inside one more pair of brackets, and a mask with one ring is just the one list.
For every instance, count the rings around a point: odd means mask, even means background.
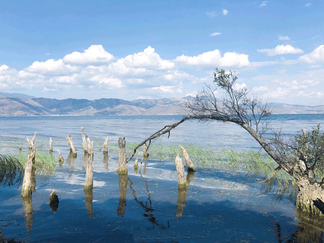
[{"label": "hazy range of brown-blue hills along the far lakeshore", "polygon": [[[186,96],[132,101],[113,98],[59,100],[35,98],[24,94],[0,93],[0,116],[177,115],[183,113],[183,103],[193,99],[192,96]],[[284,103],[272,103],[271,105],[274,114],[324,113],[324,105],[303,106]]]}]

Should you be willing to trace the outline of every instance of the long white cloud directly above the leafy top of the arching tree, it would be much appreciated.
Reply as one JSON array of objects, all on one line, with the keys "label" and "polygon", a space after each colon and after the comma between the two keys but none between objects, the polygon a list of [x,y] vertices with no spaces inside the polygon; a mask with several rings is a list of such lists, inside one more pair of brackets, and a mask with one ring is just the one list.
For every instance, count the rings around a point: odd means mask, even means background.
[{"label": "long white cloud directly above the leafy top of the arching tree", "polygon": [[249,55],[239,54],[236,52],[226,52],[222,57],[220,51],[217,49],[214,51],[204,52],[198,56],[177,56],[174,61],[189,66],[206,65],[211,67],[243,67],[250,65]]}]

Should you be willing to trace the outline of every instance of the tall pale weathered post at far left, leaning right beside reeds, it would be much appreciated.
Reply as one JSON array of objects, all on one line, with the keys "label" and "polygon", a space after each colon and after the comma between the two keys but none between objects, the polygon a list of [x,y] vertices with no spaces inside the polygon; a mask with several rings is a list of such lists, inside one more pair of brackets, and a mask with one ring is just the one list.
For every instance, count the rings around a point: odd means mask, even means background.
[{"label": "tall pale weathered post at far left, leaning right beside reeds", "polygon": [[27,157],[27,163],[25,165],[25,173],[24,173],[24,179],[22,183],[21,188],[21,196],[26,197],[31,195],[32,191],[32,185],[31,185],[31,173],[32,173],[32,167],[35,164],[35,145],[34,143],[27,138],[28,145],[31,146],[31,150],[29,151],[28,157]]}]

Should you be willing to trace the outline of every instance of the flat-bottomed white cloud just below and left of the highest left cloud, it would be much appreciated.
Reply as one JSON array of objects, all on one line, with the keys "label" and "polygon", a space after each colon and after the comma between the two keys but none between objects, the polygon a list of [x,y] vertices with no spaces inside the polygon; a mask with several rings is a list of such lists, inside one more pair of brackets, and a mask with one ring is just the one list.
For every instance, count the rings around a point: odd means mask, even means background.
[{"label": "flat-bottomed white cloud just below and left of the highest left cloud", "polygon": [[36,73],[41,75],[69,75],[75,73],[79,70],[79,67],[71,66],[69,64],[64,64],[62,59],[55,61],[54,59],[49,59],[45,62],[33,62],[26,71],[29,73]]}]

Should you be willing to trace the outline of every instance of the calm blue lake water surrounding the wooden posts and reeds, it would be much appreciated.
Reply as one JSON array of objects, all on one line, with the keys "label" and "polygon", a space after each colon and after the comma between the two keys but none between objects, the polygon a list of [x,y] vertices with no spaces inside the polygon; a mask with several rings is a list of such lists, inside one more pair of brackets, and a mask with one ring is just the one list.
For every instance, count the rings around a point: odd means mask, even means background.
[{"label": "calm blue lake water surrounding the wooden posts and reeds", "polygon": [[[37,131],[36,146],[54,154],[60,149],[64,164],[52,175],[36,176],[36,191],[20,197],[21,185],[0,187],[0,231],[5,237],[27,242],[322,242],[323,223],[296,212],[296,190],[282,197],[262,190],[262,176],[224,169],[199,168],[187,191],[178,191],[173,161],[148,160],[128,175],[115,170],[118,158],[94,153],[94,189],[83,191],[86,164],[80,126],[91,140],[110,144],[119,136],[140,142],[179,116],[82,116],[0,118],[0,151],[27,153],[26,137]],[[272,115],[274,127],[286,135],[324,123],[324,115]],[[70,158],[65,137],[72,134],[78,152]],[[215,149],[259,149],[249,135],[233,124],[186,121],[163,144],[195,143]],[[13,152],[14,151],[14,152]],[[54,213],[48,205],[52,189],[59,196]]]}]

